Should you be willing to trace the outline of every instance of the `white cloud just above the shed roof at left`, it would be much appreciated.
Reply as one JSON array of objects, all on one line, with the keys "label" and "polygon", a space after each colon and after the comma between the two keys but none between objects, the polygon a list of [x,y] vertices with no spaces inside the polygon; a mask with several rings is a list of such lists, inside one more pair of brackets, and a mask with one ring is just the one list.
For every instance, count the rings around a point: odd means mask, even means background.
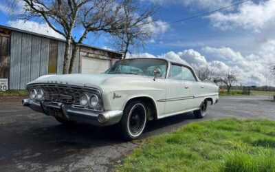
[{"label": "white cloud just above the shed roof at left", "polygon": [[24,21],[24,20],[17,20],[17,21],[8,21],[8,25],[12,28],[18,28],[21,30],[27,30],[30,32],[35,32],[38,34],[44,34],[47,36],[53,36],[58,39],[64,39],[61,34],[55,32],[52,28],[50,28],[47,23],[37,23],[35,21]]}]

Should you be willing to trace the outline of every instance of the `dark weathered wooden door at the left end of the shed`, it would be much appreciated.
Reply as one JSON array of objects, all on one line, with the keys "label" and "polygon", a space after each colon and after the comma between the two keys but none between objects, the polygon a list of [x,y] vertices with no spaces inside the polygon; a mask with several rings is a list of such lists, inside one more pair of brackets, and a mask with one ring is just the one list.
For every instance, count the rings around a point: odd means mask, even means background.
[{"label": "dark weathered wooden door at the left end of the shed", "polygon": [[0,30],[0,78],[9,78],[10,31]]}]

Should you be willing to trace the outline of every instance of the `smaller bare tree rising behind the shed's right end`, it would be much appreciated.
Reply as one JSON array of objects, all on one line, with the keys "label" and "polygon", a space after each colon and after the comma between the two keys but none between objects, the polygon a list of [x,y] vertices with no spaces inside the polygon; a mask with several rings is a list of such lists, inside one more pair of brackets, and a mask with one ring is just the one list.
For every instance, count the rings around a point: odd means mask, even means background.
[{"label": "smaller bare tree rising behind the shed's right end", "polygon": [[123,58],[126,58],[129,47],[144,48],[144,43],[151,39],[154,32],[151,29],[152,23],[157,21],[158,7],[150,3],[140,5],[135,0],[125,0],[122,3],[122,15],[124,17],[124,28],[114,32],[111,43],[117,50],[122,50]]}]

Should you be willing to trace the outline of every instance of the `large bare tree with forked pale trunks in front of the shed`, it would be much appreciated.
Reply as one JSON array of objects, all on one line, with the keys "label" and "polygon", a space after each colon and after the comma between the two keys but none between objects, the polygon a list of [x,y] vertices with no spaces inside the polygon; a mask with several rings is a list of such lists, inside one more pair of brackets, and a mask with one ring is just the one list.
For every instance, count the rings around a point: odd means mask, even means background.
[{"label": "large bare tree with forked pale trunks in front of the shed", "polygon": [[[72,58],[69,73],[74,69],[74,60],[79,44],[83,42],[89,32],[113,32],[121,27],[122,18],[118,17],[120,6],[115,0],[5,0],[7,6],[14,9],[22,5],[21,14],[14,17],[29,20],[32,18],[45,21],[50,28],[66,39],[63,63],[63,74],[68,72],[70,45],[73,43]],[[118,26],[119,25],[119,26]],[[80,26],[84,32],[76,40],[72,36],[74,28]]]}]

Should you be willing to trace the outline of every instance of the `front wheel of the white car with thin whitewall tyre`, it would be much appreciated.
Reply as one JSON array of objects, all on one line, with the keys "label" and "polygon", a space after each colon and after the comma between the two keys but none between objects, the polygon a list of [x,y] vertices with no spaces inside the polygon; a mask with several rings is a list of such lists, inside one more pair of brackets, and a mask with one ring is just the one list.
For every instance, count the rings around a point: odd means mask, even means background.
[{"label": "front wheel of the white car with thin whitewall tyre", "polygon": [[146,107],[140,100],[133,100],[124,109],[120,127],[124,140],[140,137],[146,125]]}]

